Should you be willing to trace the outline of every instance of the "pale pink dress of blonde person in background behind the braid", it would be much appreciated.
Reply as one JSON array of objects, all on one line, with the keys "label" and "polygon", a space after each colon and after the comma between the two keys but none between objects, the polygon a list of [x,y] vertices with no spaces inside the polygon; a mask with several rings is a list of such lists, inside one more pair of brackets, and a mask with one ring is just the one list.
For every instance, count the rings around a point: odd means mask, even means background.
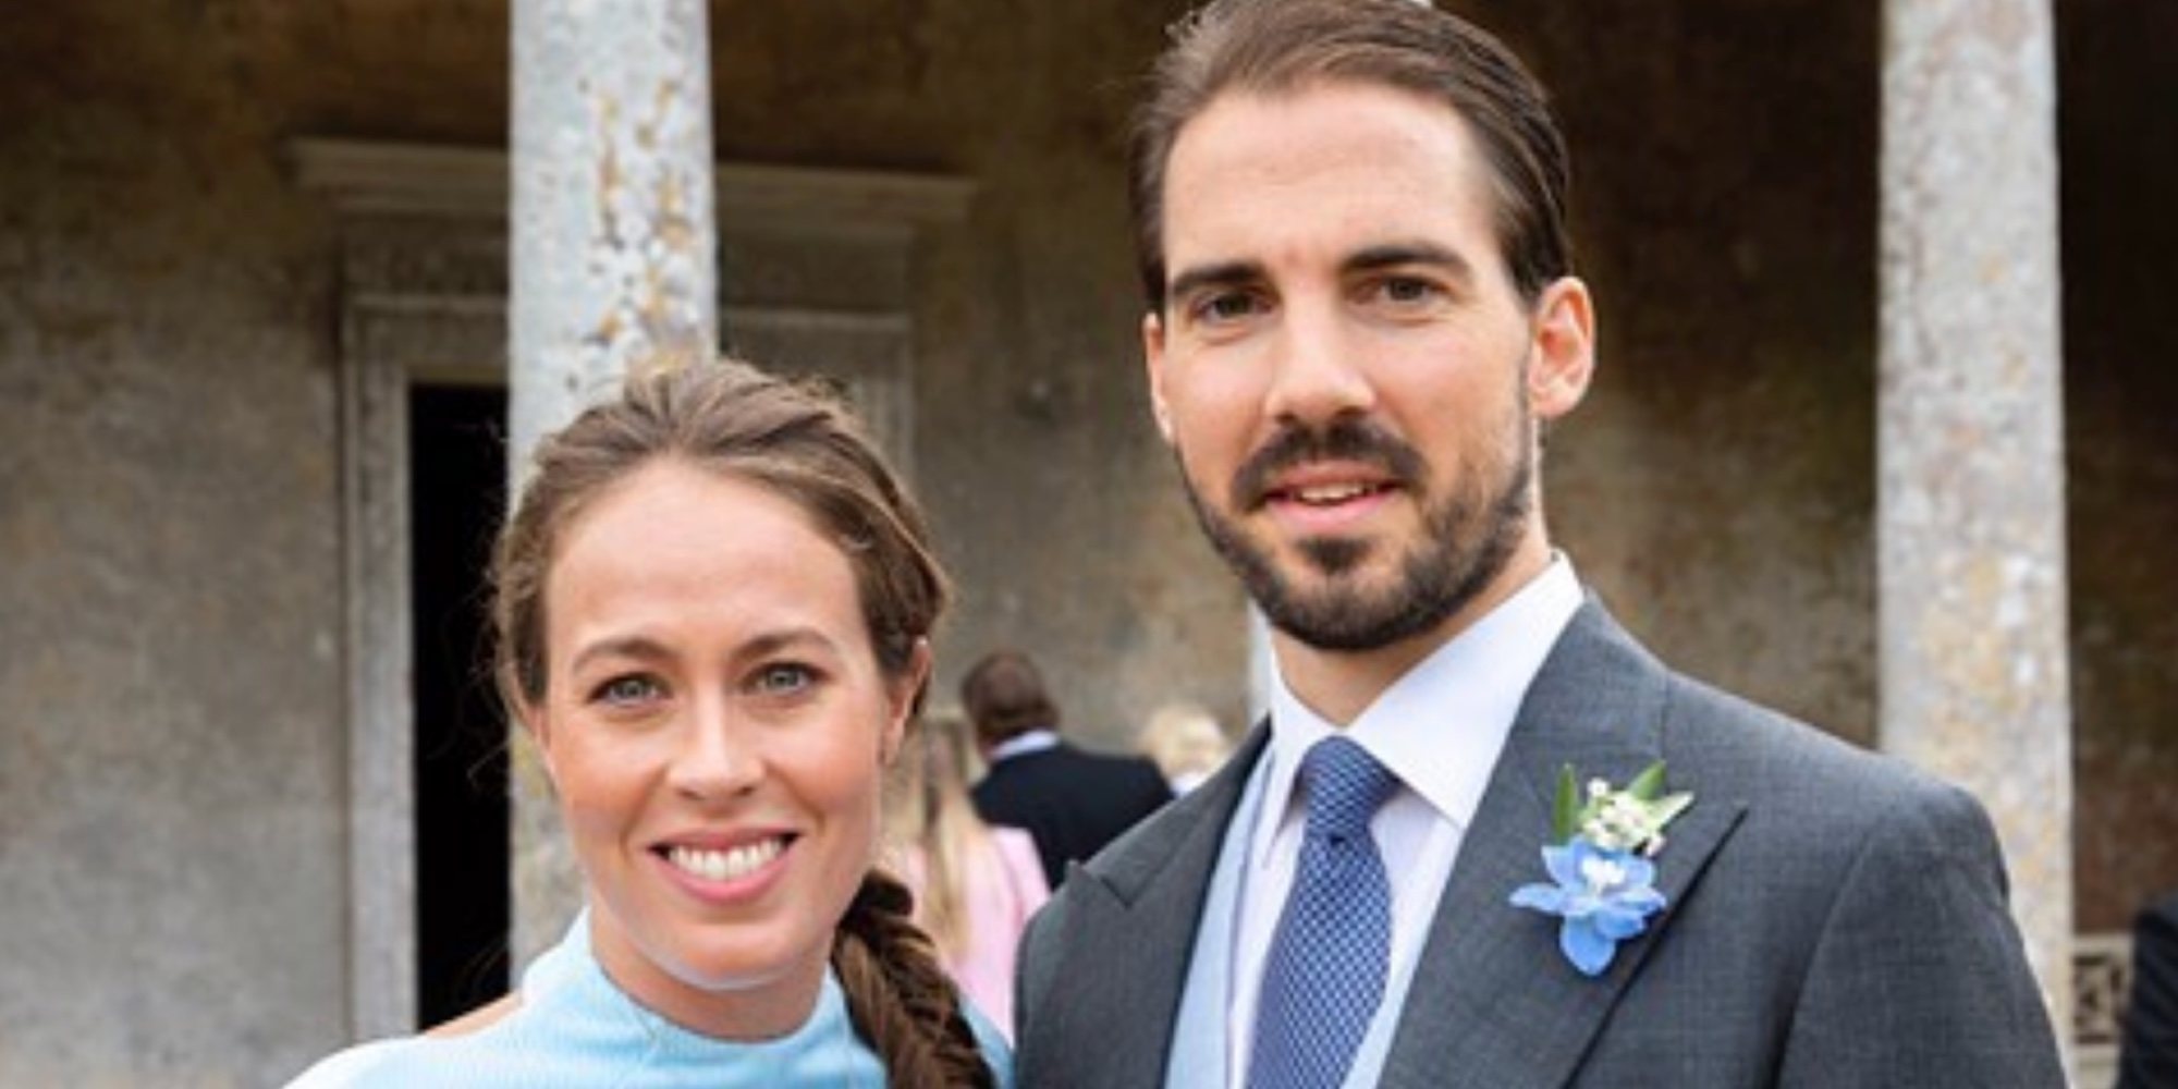
[{"label": "pale pink dress of blonde person in background behind the braid", "polygon": [[[1013,1041],[1013,956],[1021,943],[1028,917],[1052,897],[1037,860],[1037,841],[1019,828],[991,828],[989,852],[967,860],[967,895],[963,900],[965,943],[945,958],[945,971]],[[902,852],[908,884],[923,886],[921,852]]]}]

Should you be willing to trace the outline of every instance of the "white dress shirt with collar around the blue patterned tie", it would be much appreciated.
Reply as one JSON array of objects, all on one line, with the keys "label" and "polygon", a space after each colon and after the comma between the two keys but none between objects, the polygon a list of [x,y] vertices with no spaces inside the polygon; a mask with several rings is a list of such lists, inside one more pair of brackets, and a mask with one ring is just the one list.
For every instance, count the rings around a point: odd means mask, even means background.
[{"label": "white dress shirt with collar around the blue patterned tie", "polygon": [[[1581,584],[1573,562],[1553,553],[1542,575],[1422,658],[1344,730],[1398,775],[1398,788],[1370,821],[1392,882],[1392,963],[1383,1006],[1370,1026],[1370,1037],[1376,1039],[1374,1063],[1383,1061],[1429,919],[1498,751],[1505,749],[1520,699],[1579,608]],[[1337,725],[1294,697],[1283,673],[1274,677],[1270,747],[1257,767],[1263,804],[1248,836],[1246,893],[1235,908],[1228,960],[1233,1004],[1226,1021],[1226,1076],[1235,1089],[1248,1082],[1263,960],[1300,858],[1307,812],[1294,797],[1294,778],[1309,747],[1335,732]],[[1357,1074],[1370,1052],[1363,1043],[1363,1054],[1355,1061]],[[1366,1085],[1372,1082],[1374,1078]]]}]

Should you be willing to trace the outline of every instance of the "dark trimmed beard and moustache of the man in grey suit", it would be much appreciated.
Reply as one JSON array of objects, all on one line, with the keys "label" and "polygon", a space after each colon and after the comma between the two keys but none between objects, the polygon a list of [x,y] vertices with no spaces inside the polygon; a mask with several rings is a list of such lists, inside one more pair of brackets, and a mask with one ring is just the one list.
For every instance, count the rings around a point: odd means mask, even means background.
[{"label": "dark trimmed beard and moustache of the man in grey suit", "polygon": [[1272,551],[1250,540],[1241,527],[1211,510],[1196,492],[1180,460],[1180,481],[1196,521],[1239,575],[1248,597],[1274,627],[1326,651],[1372,651],[1437,627],[1475,601],[1520,547],[1533,507],[1535,420],[1525,409],[1514,436],[1512,462],[1479,490],[1453,492],[1429,503],[1429,466],[1422,455],[1363,420],[1333,420],[1322,431],[1289,427],[1257,451],[1233,475],[1233,510],[1263,501],[1268,477],[1285,466],[1316,460],[1368,462],[1392,473],[1422,503],[1420,536],[1398,560],[1398,577],[1383,590],[1339,584],[1381,547],[1355,538],[1307,538],[1300,560],[1329,577],[1329,586],[1307,592],[1287,579]]}]

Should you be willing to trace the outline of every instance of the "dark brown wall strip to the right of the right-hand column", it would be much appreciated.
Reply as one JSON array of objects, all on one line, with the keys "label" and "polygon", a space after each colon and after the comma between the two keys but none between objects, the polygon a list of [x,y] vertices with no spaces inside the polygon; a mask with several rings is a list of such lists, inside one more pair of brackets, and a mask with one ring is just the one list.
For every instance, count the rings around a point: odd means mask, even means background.
[{"label": "dark brown wall strip to the right of the right-hand column", "polygon": [[2060,0],[2080,930],[2178,889],[2178,7]]}]

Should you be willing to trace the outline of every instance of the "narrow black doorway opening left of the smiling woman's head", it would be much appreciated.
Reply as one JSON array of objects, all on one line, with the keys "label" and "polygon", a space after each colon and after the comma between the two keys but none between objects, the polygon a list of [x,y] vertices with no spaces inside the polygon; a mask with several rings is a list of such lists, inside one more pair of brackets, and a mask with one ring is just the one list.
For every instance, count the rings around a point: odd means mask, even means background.
[{"label": "narrow black doorway opening left of the smiling woman's head", "polygon": [[505,418],[499,388],[409,388],[423,1026],[507,991],[507,747],[484,584],[505,507]]}]

